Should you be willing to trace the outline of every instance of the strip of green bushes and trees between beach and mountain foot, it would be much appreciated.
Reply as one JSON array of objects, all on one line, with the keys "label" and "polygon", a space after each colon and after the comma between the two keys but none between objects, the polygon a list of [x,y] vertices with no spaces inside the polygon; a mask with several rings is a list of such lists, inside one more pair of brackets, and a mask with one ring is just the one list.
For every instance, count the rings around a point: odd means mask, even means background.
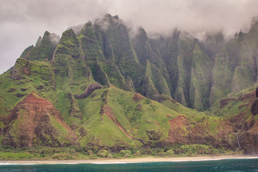
[{"label": "strip of green bushes and trees between beach and mountain foot", "polygon": [[[238,151],[239,152],[239,151]],[[113,158],[127,158],[138,157],[143,155],[152,156],[191,156],[191,155],[219,155],[220,153],[233,153],[225,148],[213,148],[203,144],[189,144],[189,145],[172,145],[161,148],[128,148],[120,152],[113,152],[110,150],[94,150],[86,146],[70,146],[70,147],[35,147],[35,148],[14,148],[11,146],[0,147],[0,159],[8,160],[26,160],[26,159],[96,159],[98,157],[108,157],[112,155]],[[241,155],[241,153],[240,153]]]}]

